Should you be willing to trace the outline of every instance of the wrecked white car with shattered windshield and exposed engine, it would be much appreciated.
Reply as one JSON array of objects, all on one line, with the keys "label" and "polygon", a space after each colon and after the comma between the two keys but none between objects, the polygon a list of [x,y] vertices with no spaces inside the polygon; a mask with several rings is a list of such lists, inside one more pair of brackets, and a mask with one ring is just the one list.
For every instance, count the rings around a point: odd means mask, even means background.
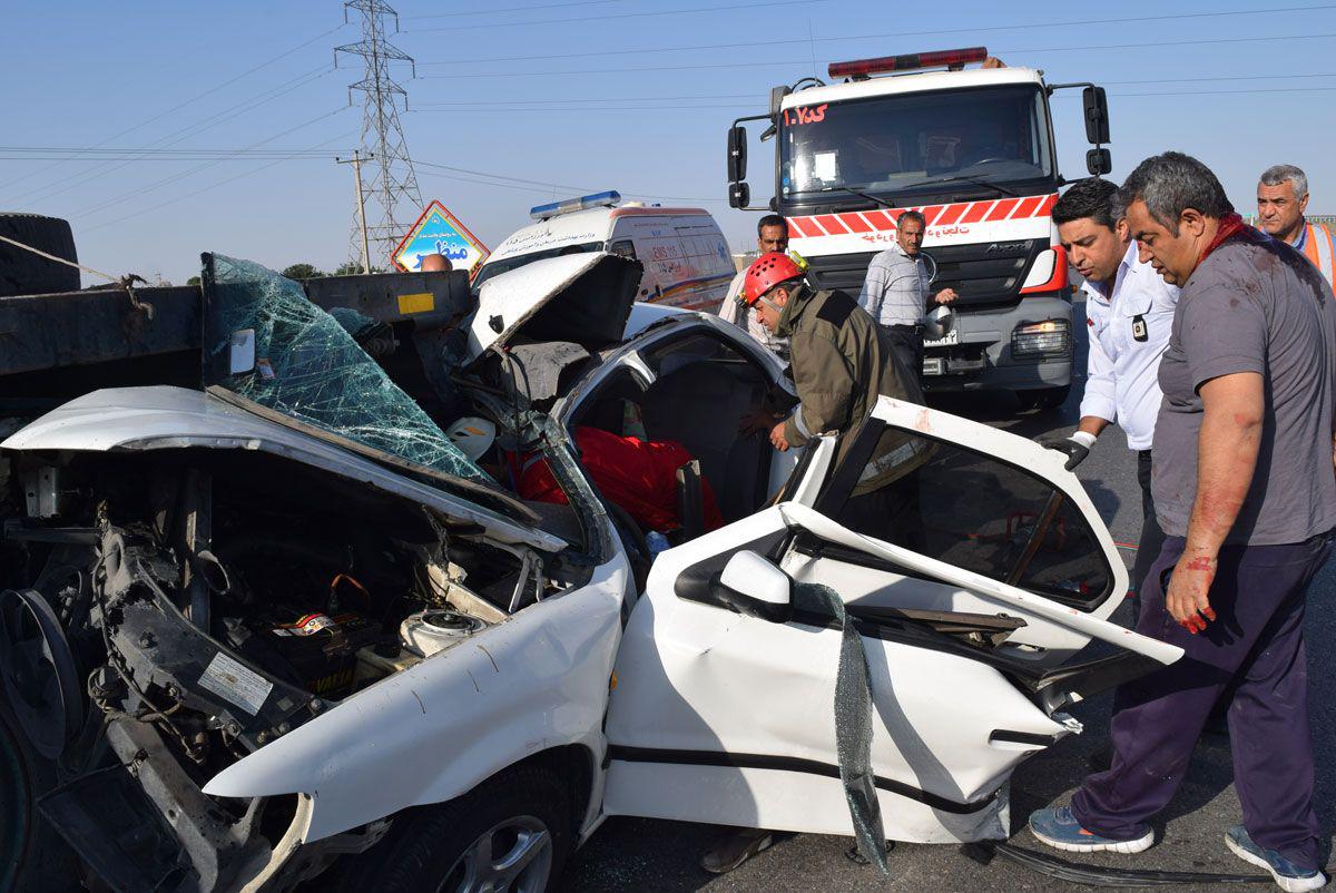
[{"label": "wrecked white car with shattered windshield and exposed engine", "polygon": [[[639,278],[497,277],[405,372],[358,346],[393,333],[206,255],[203,389],[96,390],[3,442],[0,698],[79,870],[542,890],[608,815],[1003,838],[1063,706],[1178,656],[1106,622],[1126,572],[1059,456],[894,400],[775,452],[739,420],[791,404],[778,361],[632,313]],[[465,414],[481,463],[442,433]],[[673,548],[581,429],[692,457]],[[536,463],[558,497],[520,495]],[[855,511],[868,481],[892,512]]]}]

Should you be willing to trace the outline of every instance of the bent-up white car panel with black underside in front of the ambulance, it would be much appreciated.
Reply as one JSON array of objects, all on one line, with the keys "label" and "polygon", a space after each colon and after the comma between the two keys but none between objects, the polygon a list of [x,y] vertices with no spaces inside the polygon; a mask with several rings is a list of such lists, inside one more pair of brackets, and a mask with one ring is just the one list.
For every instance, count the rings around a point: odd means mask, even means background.
[{"label": "bent-up white car panel with black underside in front of the ambulance", "polygon": [[572,254],[488,279],[469,325],[468,361],[517,337],[597,350],[621,341],[643,267],[615,254]]}]

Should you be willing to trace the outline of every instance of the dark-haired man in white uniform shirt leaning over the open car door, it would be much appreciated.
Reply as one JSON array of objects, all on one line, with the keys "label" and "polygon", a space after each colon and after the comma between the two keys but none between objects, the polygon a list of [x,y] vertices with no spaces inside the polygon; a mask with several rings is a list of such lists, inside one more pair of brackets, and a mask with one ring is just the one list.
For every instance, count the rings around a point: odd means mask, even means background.
[{"label": "dark-haired man in white uniform shirt leaning over the open car door", "polygon": [[[1137,255],[1118,187],[1097,178],[1074,183],[1053,206],[1053,222],[1071,266],[1085,278],[1090,352],[1081,422],[1070,437],[1039,442],[1067,455],[1067,471],[1090,452],[1096,437],[1117,422],[1137,452],[1142,525],[1132,568],[1133,614],[1141,608],[1141,582],[1160,555],[1164,532],[1150,497],[1150,449],[1160,412],[1160,356],[1169,344],[1178,289]],[[1133,623],[1136,619],[1133,619]]]}]

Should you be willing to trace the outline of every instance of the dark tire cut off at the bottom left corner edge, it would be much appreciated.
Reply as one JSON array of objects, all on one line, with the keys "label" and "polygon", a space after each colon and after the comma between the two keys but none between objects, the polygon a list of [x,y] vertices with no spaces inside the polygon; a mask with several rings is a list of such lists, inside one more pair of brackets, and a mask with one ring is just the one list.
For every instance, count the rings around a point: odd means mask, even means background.
[{"label": "dark tire cut off at the bottom left corner edge", "polygon": [[73,850],[37,811],[55,785],[55,765],[33,751],[0,691],[0,893],[80,889]]}]

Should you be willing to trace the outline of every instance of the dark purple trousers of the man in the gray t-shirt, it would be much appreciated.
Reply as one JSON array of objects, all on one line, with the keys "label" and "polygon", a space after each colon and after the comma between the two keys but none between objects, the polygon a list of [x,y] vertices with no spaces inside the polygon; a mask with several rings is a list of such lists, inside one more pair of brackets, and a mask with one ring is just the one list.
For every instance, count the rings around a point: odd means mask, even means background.
[{"label": "dark purple trousers of the man in the gray t-shirt", "polygon": [[1166,537],[1150,565],[1137,632],[1184,650],[1176,663],[1118,690],[1113,766],[1071,799],[1082,827],[1114,840],[1145,833],[1188,770],[1216,700],[1229,705],[1234,787],[1259,845],[1316,868],[1313,747],[1308,725],[1304,600],[1332,535],[1289,545],[1226,545],[1210,587],[1213,620],[1189,634],[1165,610],[1165,586],[1184,540]]}]

